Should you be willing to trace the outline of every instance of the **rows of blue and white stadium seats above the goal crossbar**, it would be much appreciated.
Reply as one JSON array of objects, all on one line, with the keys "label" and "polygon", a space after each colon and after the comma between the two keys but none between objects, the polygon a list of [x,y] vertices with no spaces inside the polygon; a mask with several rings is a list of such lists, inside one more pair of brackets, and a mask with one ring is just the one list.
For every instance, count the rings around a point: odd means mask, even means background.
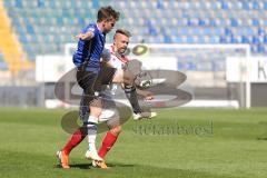
[{"label": "rows of blue and white stadium seats above the goal crossbar", "polygon": [[65,43],[75,42],[72,36],[108,4],[121,11],[117,27],[130,27],[136,43],[249,43],[254,55],[267,53],[267,0],[4,0],[31,60],[62,53]]}]

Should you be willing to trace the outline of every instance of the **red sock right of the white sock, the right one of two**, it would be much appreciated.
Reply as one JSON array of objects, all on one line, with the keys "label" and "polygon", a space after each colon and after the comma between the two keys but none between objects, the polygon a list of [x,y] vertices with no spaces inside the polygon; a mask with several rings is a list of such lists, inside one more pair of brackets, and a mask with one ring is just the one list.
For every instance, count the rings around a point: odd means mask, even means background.
[{"label": "red sock right of the white sock, the right one of two", "polygon": [[107,132],[106,137],[102,140],[102,146],[98,151],[98,155],[103,158],[108,151],[111,149],[111,147],[113,146],[113,144],[117,140],[117,136],[112,135],[110,131]]}]

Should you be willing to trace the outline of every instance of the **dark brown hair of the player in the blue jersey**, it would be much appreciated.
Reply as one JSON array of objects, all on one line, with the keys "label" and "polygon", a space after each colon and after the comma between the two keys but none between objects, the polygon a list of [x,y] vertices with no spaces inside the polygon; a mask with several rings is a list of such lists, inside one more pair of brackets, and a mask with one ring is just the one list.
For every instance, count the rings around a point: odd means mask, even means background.
[{"label": "dark brown hair of the player in the blue jersey", "polygon": [[111,20],[115,19],[116,21],[119,20],[119,16],[120,13],[116,10],[112,9],[112,7],[108,6],[108,7],[102,7],[98,10],[98,17],[97,17],[97,21],[103,21],[103,20]]}]

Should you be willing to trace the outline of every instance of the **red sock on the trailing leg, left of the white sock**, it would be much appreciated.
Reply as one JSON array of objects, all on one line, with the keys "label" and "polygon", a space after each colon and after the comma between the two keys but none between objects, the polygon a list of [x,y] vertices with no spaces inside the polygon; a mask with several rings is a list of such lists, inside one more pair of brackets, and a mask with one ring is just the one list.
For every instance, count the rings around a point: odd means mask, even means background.
[{"label": "red sock on the trailing leg, left of the white sock", "polygon": [[67,145],[63,147],[63,151],[66,155],[69,155],[69,152],[78,146],[85,138],[87,134],[85,128],[79,128],[76,132],[72,134],[71,139],[67,142]]}]

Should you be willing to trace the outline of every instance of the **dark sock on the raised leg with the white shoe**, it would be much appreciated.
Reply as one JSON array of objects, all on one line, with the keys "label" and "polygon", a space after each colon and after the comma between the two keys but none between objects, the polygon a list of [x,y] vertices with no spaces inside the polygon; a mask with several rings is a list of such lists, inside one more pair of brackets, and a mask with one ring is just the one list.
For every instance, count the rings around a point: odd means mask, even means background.
[{"label": "dark sock on the raised leg with the white shoe", "polygon": [[125,93],[128,100],[130,101],[130,105],[134,109],[135,113],[141,112],[141,108],[138,102],[136,87],[134,86],[125,86]]}]

